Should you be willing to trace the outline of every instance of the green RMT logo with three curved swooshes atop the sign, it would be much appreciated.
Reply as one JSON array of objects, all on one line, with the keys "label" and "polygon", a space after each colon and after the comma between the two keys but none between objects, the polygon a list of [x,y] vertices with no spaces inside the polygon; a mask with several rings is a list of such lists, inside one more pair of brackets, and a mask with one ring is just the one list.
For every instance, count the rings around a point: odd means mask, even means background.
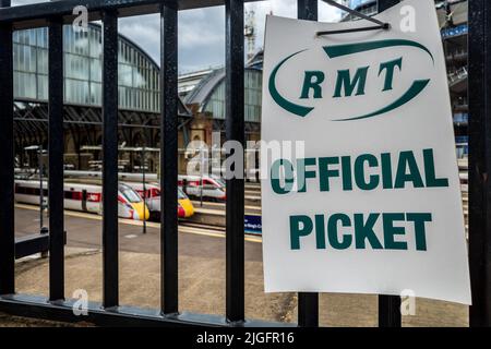
[{"label": "green RMT logo with three curved swooshes atop the sign", "polygon": [[[346,45],[335,45],[335,46],[325,46],[323,47],[324,52],[327,55],[330,59],[339,58],[348,55],[356,55],[366,51],[395,47],[395,46],[407,46],[418,48],[431,58],[431,61],[434,63],[433,55],[419,43],[404,39],[387,39],[387,40],[378,40],[378,41],[367,41],[367,43],[355,43],[355,44],[346,44]],[[279,69],[292,57],[304,52],[306,50],[300,50],[295,52],[284,60],[282,60],[274,69],[270,75],[268,81],[268,89],[272,98],[283,109],[287,110],[290,113],[297,115],[299,117],[306,117],[309,112],[311,112],[314,107],[303,106],[300,104],[292,103],[285,97],[283,97],[276,88],[276,75]],[[333,98],[346,98],[351,96],[361,96],[366,94],[367,86],[367,75],[370,65],[360,67],[351,72],[349,69],[338,70],[337,76],[335,79],[334,85],[334,94]],[[382,61],[378,64],[378,76],[383,80],[383,85],[381,92],[387,92],[393,89],[394,85],[394,76],[397,71],[403,70],[403,57],[399,57],[390,61]],[[326,76],[325,73],[319,70],[307,70],[303,75],[303,84],[301,87],[301,93],[299,96],[300,100],[309,100],[309,99],[320,99],[324,98],[323,86],[325,83]],[[416,96],[418,96],[424,87],[427,87],[429,79],[427,80],[415,80],[409,88],[394,101],[388,105],[361,116],[348,116],[340,119],[334,119],[333,121],[349,121],[349,120],[359,120],[372,118],[388,111],[392,111],[400,106],[407,104]]]}]

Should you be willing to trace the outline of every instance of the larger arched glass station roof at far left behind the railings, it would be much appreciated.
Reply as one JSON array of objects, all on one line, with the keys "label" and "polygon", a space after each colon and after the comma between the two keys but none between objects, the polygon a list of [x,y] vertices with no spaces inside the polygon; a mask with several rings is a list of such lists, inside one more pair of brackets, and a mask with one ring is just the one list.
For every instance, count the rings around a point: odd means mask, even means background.
[{"label": "larger arched glass station roof at far left behind the railings", "polygon": [[[14,98],[48,99],[48,28],[14,32]],[[159,69],[135,44],[119,36],[119,108],[159,112]],[[101,28],[63,26],[64,103],[101,106]]]}]

